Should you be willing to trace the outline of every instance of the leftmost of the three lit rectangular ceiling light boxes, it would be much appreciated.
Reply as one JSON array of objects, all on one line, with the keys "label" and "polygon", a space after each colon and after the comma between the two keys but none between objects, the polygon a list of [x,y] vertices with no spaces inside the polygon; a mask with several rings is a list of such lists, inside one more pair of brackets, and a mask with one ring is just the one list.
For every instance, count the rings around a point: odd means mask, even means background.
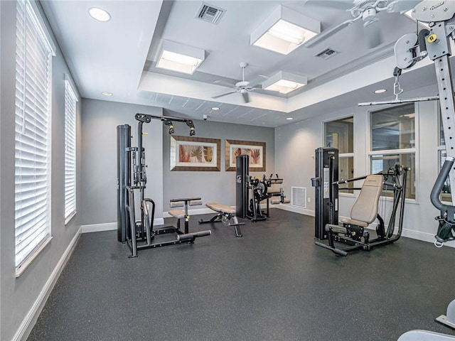
[{"label": "leftmost of the three lit rectangular ceiling light boxes", "polygon": [[205,59],[205,50],[163,40],[156,67],[193,75]]}]

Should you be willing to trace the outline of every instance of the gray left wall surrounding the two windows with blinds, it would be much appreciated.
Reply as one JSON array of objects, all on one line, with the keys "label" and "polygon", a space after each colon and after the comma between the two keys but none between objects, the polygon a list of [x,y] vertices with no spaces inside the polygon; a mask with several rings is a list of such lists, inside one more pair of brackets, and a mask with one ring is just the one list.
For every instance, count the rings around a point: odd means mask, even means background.
[{"label": "gray left wall surrounding the two windows with blinds", "polygon": [[[68,67],[57,49],[53,58],[52,100],[52,241],[18,278],[14,261],[14,112],[16,1],[0,1],[0,340],[11,340],[51,278],[58,261],[80,229],[80,186],[77,185],[77,215],[65,226],[64,217],[64,114],[65,73]],[[80,131],[80,102],[77,104]],[[80,151],[80,135],[77,135]],[[80,183],[80,153],[77,153],[77,184]],[[48,284],[48,283],[47,283]],[[33,322],[33,321],[32,321]],[[33,325],[33,323],[32,323]]]}]

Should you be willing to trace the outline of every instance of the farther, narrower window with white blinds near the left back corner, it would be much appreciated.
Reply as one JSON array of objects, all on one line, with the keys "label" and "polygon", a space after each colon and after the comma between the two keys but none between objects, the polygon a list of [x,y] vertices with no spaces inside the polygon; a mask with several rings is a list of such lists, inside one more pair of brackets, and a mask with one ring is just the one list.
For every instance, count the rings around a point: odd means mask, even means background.
[{"label": "farther, narrower window with white blinds near the left back corner", "polygon": [[76,213],[76,104],[74,87],[65,80],[65,224]]}]

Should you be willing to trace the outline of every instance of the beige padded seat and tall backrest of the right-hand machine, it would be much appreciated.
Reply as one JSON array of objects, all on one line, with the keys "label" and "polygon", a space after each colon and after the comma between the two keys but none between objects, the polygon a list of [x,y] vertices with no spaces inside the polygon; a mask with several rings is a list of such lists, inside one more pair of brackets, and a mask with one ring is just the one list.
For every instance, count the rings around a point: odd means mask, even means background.
[{"label": "beige padded seat and tall backrest of the right-hand machine", "polygon": [[341,222],[367,227],[378,216],[379,198],[382,192],[384,178],[382,175],[368,175],[363,182],[362,189],[350,210],[350,219],[341,219]]}]

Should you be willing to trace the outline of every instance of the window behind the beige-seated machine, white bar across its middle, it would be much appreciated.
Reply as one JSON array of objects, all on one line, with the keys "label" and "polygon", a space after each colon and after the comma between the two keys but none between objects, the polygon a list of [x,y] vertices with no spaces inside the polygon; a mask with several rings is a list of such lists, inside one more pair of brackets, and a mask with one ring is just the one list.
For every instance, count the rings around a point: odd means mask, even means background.
[{"label": "window behind the beige-seated machine, white bar across its middle", "polygon": [[410,167],[406,197],[415,199],[414,103],[370,112],[370,171],[378,173],[400,164]]}]

